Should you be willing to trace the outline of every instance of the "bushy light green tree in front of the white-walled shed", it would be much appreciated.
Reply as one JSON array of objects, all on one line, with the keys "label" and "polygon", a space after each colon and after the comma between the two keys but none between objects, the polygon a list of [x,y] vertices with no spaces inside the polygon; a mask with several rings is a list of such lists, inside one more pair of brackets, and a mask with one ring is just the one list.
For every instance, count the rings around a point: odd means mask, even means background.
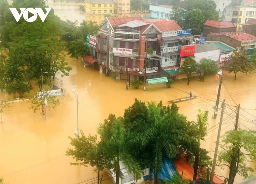
[{"label": "bushy light green tree in front of the white-walled shed", "polygon": [[216,74],[218,72],[218,65],[211,59],[202,58],[198,64],[200,76],[199,79],[204,82],[204,77],[209,74]]}]

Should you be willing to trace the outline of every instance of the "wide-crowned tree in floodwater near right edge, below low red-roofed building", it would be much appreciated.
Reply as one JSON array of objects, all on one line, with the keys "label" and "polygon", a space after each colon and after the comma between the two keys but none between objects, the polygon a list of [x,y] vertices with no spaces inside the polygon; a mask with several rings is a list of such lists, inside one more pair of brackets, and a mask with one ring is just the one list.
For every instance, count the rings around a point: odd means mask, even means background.
[{"label": "wide-crowned tree in floodwater near right edge, below low red-roofed building", "polygon": [[231,60],[223,65],[223,69],[228,73],[234,72],[235,80],[237,79],[237,72],[248,73],[253,71],[254,68],[254,64],[248,60],[247,51],[234,52]]}]

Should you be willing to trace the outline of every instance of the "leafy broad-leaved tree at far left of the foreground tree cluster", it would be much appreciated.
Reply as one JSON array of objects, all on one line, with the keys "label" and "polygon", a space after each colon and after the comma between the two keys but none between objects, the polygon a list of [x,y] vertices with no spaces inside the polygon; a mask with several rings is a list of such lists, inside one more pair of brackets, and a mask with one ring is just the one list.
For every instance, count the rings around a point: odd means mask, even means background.
[{"label": "leafy broad-leaved tree at far left of the foreground tree cluster", "polygon": [[79,137],[68,137],[71,140],[70,144],[74,147],[74,149],[68,148],[66,155],[72,156],[73,159],[75,159],[75,163],[70,163],[72,166],[87,167],[89,164],[92,167],[96,167],[99,184],[100,171],[102,171],[104,168],[111,169],[112,167],[111,156],[101,154],[95,156],[90,155],[90,149],[92,149],[93,146],[100,146],[100,144],[97,142],[97,135],[91,136],[91,134],[89,134],[88,137],[86,137],[81,130],[80,132],[81,136]]}]

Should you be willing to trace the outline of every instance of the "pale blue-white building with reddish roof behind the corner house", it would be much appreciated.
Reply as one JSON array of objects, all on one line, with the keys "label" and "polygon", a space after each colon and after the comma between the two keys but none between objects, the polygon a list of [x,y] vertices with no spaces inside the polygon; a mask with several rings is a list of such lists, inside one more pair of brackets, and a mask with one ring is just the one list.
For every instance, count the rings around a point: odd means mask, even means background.
[{"label": "pale blue-white building with reddish roof behind the corner house", "polygon": [[153,6],[149,5],[150,18],[168,18],[171,19],[173,16],[172,6],[159,5]]}]

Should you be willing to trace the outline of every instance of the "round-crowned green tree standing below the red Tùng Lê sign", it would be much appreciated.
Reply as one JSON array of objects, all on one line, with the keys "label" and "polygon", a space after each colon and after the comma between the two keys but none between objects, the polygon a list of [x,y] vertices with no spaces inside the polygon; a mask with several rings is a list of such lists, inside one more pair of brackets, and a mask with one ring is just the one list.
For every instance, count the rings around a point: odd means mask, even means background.
[{"label": "round-crowned green tree standing below the red T\u00f9ng L\u00ea sign", "polygon": [[186,73],[188,77],[187,84],[189,85],[192,75],[198,71],[198,65],[196,61],[192,57],[186,57],[181,66],[181,69]]}]

